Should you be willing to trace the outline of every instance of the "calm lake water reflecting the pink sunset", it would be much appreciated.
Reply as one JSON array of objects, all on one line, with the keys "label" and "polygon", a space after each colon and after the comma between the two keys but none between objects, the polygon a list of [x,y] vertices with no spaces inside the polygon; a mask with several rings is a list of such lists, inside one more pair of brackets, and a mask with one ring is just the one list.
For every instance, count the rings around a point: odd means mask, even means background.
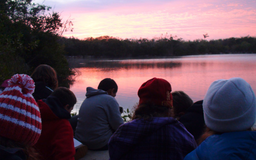
[{"label": "calm lake water reflecting the pink sunset", "polygon": [[244,78],[256,93],[256,54],[89,62],[80,59],[76,64],[80,74],[70,89],[78,100],[73,110],[77,113],[85,99],[86,87],[97,88],[104,78],[116,81],[116,100],[120,106],[130,109],[139,100],[138,88],[153,77],[169,81],[172,91],[183,90],[194,102],[202,100],[211,82],[218,79]]}]

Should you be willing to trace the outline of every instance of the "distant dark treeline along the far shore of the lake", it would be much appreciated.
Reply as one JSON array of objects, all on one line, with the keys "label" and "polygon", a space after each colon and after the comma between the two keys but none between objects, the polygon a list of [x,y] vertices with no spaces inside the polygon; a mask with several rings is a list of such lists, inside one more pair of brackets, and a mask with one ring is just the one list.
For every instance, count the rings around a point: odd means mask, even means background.
[{"label": "distant dark treeline along the far shore of the lake", "polygon": [[67,56],[91,58],[148,58],[197,54],[256,53],[256,37],[252,36],[209,41],[203,39],[185,41],[168,34],[151,40],[146,38],[123,40],[101,36],[89,37],[84,40],[62,38],[61,43],[65,46]]}]

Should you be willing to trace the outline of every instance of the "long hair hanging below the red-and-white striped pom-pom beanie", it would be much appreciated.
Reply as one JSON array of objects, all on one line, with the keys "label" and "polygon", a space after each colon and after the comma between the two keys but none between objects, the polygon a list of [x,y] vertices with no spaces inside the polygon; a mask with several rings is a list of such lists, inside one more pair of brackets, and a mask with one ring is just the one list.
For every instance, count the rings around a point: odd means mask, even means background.
[{"label": "long hair hanging below the red-and-white striped pom-pom beanie", "polygon": [[41,156],[39,153],[33,148],[33,146],[30,146],[28,144],[23,144],[21,142],[17,142],[14,140],[11,140],[9,138],[5,138],[0,136],[0,145],[9,147],[9,148],[18,148],[24,152],[26,155],[26,160],[40,160]]}]

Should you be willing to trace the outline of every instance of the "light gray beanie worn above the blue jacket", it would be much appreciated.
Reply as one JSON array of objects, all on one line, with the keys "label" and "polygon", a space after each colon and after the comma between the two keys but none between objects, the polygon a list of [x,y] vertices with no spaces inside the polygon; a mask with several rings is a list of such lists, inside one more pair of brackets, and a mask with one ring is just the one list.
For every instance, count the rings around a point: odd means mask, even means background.
[{"label": "light gray beanie worn above the blue jacket", "polygon": [[205,124],[217,132],[250,128],[256,121],[255,94],[242,78],[214,81],[203,99]]}]

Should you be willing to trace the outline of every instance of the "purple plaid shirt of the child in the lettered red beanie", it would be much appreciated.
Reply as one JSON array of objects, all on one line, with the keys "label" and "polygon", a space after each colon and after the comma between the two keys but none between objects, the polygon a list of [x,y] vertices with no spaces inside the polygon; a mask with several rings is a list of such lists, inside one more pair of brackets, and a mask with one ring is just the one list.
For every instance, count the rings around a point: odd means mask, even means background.
[{"label": "purple plaid shirt of the child in the lettered red beanie", "polygon": [[108,147],[110,160],[183,160],[197,144],[175,118],[154,117],[122,124]]}]

